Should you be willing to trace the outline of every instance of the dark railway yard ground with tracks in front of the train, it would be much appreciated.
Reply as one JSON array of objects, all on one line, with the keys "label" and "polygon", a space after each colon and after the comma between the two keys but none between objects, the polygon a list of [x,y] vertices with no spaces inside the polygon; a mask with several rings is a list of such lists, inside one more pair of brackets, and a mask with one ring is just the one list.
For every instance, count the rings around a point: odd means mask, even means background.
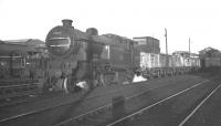
[{"label": "dark railway yard ground with tracks in front of the train", "polygon": [[0,106],[1,126],[218,126],[221,73],[161,77]]}]

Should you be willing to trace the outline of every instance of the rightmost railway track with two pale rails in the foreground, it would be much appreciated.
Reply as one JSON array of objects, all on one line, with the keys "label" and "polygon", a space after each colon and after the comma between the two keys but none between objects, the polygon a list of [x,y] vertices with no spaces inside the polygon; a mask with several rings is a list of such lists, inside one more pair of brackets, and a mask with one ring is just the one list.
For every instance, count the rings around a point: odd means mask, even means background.
[{"label": "rightmost railway track with two pale rails in the foreground", "polygon": [[[209,82],[209,81],[206,81]],[[204,83],[204,82],[203,82]],[[164,118],[167,118],[167,120],[164,120],[160,118],[159,115],[164,115],[164,113],[170,113],[169,111],[161,111],[159,112],[159,109],[162,109],[161,107],[165,106],[172,106],[171,105],[171,101],[172,98],[181,98],[181,95],[188,95],[188,93],[193,93],[196,92],[197,88],[199,88],[199,86],[202,86],[203,83],[198,83],[189,88],[186,88],[181,92],[178,92],[173,95],[170,95],[159,102],[156,102],[149,106],[146,106],[141,109],[135,111],[131,114],[128,114],[126,116],[123,116],[118,119],[114,119],[105,125],[107,126],[146,126],[146,125],[169,125],[169,126],[186,126],[186,123],[194,115],[194,113],[197,111],[199,111],[199,108],[219,90],[221,88],[221,81],[219,83],[217,83],[215,85],[213,85],[212,88],[208,90],[207,93],[200,97],[199,99],[197,99],[197,102],[194,103],[193,106],[190,107],[190,109],[188,112],[185,112],[186,114],[183,114],[181,117],[170,117],[168,118],[167,114],[165,114]],[[193,91],[194,90],[194,91]],[[200,88],[201,90],[201,88]],[[204,88],[206,90],[206,88]],[[186,96],[187,97],[187,96]],[[175,99],[177,101],[177,99]],[[155,107],[155,108],[154,108]],[[173,106],[175,107],[175,106]],[[157,109],[157,111],[156,111]],[[158,114],[156,114],[155,112],[157,112]],[[164,112],[164,113],[162,113]],[[154,114],[155,113],[155,114]],[[154,117],[155,116],[155,117]],[[171,116],[171,115],[170,115]],[[169,120],[169,119],[177,119],[177,120]],[[156,119],[158,120],[158,123],[156,123]],[[161,122],[161,123],[159,123]],[[192,124],[189,124],[192,125]]]}]

